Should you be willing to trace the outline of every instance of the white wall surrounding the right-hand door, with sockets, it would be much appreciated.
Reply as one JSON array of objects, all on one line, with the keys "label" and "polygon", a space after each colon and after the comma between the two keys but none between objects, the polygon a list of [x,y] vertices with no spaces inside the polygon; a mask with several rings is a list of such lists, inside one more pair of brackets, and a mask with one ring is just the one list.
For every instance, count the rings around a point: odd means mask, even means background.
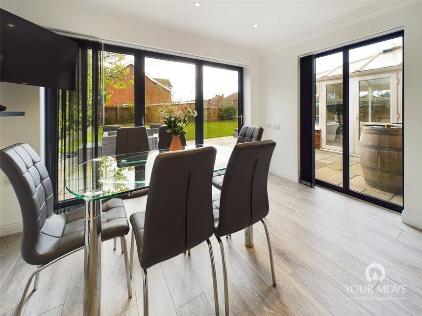
[{"label": "white wall surrounding the right-hand door, with sockets", "polygon": [[292,180],[299,175],[298,56],[404,25],[404,212],[402,221],[422,228],[422,2],[288,47],[261,59],[261,126],[277,142],[272,171]]}]

